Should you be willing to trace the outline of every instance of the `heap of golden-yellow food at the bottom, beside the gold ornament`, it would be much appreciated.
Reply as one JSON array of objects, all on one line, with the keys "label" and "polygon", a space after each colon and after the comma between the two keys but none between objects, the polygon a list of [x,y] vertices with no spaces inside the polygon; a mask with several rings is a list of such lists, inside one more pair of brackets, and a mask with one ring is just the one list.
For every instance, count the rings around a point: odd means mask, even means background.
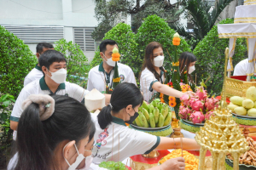
[{"label": "heap of golden-yellow food at the bottom, beside the gold ornament", "polygon": [[197,158],[195,158],[195,156],[193,154],[190,154],[188,151],[186,150],[172,150],[172,152],[170,154],[168,154],[167,156],[164,156],[162,159],[160,159],[159,164],[164,163],[165,161],[167,161],[168,159],[172,159],[172,158],[176,158],[176,157],[180,157],[183,156],[183,158],[185,159],[185,170],[197,170],[198,169],[198,165],[199,165],[199,160]]}]

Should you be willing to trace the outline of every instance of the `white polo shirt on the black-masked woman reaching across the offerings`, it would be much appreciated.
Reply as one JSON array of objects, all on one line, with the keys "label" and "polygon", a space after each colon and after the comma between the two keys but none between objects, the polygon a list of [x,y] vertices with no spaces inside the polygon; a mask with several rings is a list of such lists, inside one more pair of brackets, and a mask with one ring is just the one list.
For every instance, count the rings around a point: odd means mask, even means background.
[{"label": "white polo shirt on the black-masked woman reaching across the offerings", "polygon": [[160,137],[126,127],[122,119],[113,117],[107,128],[102,129],[96,120],[94,135],[95,164],[102,161],[123,161],[129,156],[148,154],[160,144]]}]

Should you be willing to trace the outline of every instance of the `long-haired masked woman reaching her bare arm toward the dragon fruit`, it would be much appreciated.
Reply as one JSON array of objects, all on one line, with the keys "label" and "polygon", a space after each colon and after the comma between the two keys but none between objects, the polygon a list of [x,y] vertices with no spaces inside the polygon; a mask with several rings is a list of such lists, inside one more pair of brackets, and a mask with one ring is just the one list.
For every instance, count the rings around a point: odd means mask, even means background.
[{"label": "long-haired masked woman reaching her bare arm toward the dragon fruit", "polygon": [[182,92],[163,84],[165,82],[164,58],[161,44],[159,42],[150,42],[145,50],[145,58],[140,76],[141,91],[146,101],[149,101],[156,92],[177,98],[183,96]]}]

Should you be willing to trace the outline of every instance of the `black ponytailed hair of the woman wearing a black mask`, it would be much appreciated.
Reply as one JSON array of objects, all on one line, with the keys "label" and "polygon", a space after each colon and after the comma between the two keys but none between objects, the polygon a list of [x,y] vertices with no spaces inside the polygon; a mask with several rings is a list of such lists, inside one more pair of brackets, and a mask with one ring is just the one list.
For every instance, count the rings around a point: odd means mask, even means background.
[{"label": "black ponytailed hair of the woman wearing a black mask", "polygon": [[135,108],[137,105],[143,104],[143,94],[137,86],[133,83],[123,82],[113,89],[111,95],[110,105],[102,108],[102,111],[98,115],[98,122],[102,129],[108,127],[112,122],[113,113],[118,113],[120,110],[127,107],[127,105],[132,105]]}]

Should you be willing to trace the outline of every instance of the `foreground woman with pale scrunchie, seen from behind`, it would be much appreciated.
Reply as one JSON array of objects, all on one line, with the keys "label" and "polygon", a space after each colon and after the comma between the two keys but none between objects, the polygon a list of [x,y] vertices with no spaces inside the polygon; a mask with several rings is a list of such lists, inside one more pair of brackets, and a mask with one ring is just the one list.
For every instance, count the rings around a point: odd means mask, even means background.
[{"label": "foreground woman with pale scrunchie, seen from behind", "polygon": [[23,103],[17,129],[17,153],[8,169],[74,170],[84,161],[90,112],[67,96],[32,94]]}]

